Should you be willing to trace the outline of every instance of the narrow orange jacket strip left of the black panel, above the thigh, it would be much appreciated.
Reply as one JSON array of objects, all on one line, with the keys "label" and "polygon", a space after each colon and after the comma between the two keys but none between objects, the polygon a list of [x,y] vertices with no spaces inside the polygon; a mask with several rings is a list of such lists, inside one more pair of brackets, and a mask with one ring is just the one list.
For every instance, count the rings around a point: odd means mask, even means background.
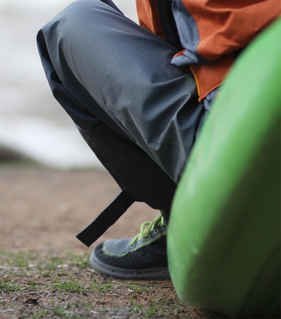
[{"label": "narrow orange jacket strip left of the black panel, above the thigh", "polygon": [[139,25],[165,40],[165,34],[155,0],[136,0]]}]

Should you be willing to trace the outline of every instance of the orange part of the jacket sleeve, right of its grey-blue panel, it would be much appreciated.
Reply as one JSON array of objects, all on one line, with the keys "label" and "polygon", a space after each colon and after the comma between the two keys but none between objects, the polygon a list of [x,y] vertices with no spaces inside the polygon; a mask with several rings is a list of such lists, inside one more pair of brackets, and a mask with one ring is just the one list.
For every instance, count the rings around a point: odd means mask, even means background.
[{"label": "orange part of the jacket sleeve, right of its grey-blue panel", "polygon": [[198,53],[209,61],[246,46],[281,13],[280,0],[182,0],[196,21]]}]

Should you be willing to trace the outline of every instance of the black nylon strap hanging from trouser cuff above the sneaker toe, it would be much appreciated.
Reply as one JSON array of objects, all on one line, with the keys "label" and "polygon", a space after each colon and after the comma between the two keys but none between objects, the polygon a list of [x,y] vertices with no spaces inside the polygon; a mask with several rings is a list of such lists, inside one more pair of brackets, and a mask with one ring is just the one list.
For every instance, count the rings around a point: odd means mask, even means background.
[{"label": "black nylon strap hanging from trouser cuff above the sneaker toe", "polygon": [[87,247],[96,241],[135,202],[133,195],[123,190],[100,215],[76,237]]}]

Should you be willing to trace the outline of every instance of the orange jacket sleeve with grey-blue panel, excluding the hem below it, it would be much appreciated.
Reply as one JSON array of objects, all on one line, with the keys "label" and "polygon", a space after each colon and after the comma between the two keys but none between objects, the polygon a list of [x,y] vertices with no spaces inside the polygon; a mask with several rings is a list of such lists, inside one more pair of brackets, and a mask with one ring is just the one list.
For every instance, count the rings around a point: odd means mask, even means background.
[{"label": "orange jacket sleeve with grey-blue panel, excluding the hem below it", "polygon": [[183,57],[180,64],[206,64],[240,50],[280,15],[280,9],[276,0],[174,0],[184,48],[177,55]]}]

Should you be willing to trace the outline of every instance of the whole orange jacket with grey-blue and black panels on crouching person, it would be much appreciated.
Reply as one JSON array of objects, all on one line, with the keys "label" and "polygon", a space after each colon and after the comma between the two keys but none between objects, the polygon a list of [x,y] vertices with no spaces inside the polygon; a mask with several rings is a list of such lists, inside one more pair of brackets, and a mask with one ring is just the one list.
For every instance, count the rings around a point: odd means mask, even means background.
[{"label": "whole orange jacket with grey-blue and black panels on crouching person", "polygon": [[[172,45],[177,42],[173,37],[179,39],[180,46],[174,46],[180,49],[171,63],[193,72],[199,101],[222,84],[233,54],[281,13],[279,0],[136,0],[136,4],[141,26]],[[172,19],[163,14],[168,9]],[[176,32],[169,34],[171,25]]]}]

